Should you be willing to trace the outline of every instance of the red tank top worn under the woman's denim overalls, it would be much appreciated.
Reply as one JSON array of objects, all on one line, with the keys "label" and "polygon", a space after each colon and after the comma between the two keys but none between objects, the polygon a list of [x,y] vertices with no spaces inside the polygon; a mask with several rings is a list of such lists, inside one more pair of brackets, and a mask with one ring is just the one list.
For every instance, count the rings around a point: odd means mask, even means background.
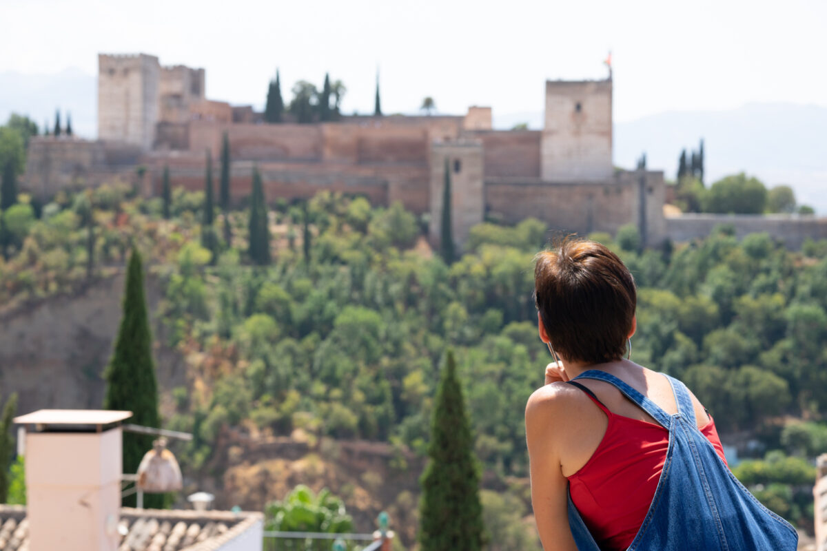
[{"label": "red tank top worn under the woman's denim overalls", "polygon": [[[661,425],[619,416],[587,396],[609,418],[606,433],[583,467],[568,477],[571,501],[600,549],[622,551],[638,534],[666,463],[669,431]],[[715,421],[700,428],[721,459]]]}]

